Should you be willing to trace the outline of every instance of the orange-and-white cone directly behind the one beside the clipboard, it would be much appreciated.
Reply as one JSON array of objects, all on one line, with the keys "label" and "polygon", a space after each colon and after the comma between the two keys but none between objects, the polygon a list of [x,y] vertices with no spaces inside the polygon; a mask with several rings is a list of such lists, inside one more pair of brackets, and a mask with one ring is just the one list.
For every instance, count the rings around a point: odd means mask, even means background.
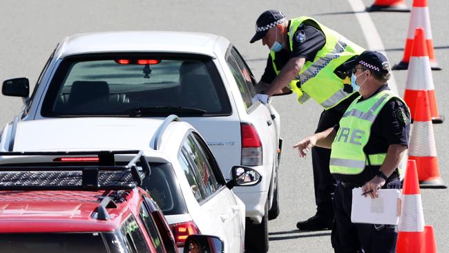
[{"label": "orange-and-white cone directly behind the one beside the clipboard", "polygon": [[426,90],[419,91],[417,95],[417,111],[414,114],[409,147],[408,159],[417,162],[421,188],[447,188],[447,185],[439,176],[437,148],[435,147]]}]

